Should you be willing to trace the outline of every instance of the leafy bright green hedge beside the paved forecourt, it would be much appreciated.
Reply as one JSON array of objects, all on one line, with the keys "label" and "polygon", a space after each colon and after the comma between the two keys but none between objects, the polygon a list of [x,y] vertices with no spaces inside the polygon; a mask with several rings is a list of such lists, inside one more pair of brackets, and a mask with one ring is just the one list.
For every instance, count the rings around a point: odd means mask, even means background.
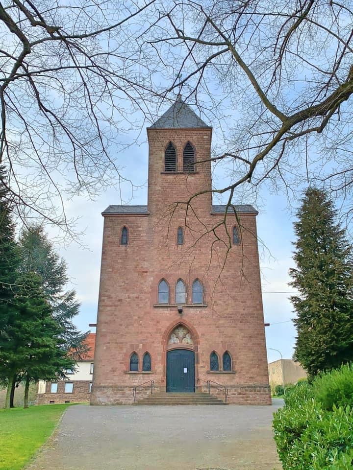
[{"label": "leafy bright green hedge beside the paved forecourt", "polygon": [[283,470],[352,470],[353,366],[294,387],[273,426]]}]

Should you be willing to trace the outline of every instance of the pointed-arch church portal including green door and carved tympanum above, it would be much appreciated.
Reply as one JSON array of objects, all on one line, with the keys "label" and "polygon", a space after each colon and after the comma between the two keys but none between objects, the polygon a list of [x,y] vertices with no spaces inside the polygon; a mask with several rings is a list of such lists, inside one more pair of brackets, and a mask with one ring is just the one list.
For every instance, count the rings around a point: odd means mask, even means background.
[{"label": "pointed-arch church portal including green door and carved tympanum above", "polygon": [[168,340],[167,392],[195,392],[195,352],[190,331],[178,325]]}]

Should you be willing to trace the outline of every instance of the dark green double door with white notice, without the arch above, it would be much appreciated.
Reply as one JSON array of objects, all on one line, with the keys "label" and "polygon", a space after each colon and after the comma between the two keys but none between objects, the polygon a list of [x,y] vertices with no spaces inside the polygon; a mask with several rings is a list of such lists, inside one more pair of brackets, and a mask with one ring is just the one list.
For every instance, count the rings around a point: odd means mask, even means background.
[{"label": "dark green double door with white notice, without the arch above", "polygon": [[167,392],[195,392],[194,351],[167,352]]}]

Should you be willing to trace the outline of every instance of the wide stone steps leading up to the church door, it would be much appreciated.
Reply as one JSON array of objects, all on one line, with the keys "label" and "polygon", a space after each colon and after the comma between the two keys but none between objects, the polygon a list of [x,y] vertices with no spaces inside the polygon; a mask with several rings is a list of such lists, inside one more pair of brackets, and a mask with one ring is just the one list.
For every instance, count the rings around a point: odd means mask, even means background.
[{"label": "wide stone steps leading up to the church door", "polygon": [[226,405],[223,400],[219,400],[208,393],[166,393],[156,392],[146,398],[138,399],[135,405]]}]

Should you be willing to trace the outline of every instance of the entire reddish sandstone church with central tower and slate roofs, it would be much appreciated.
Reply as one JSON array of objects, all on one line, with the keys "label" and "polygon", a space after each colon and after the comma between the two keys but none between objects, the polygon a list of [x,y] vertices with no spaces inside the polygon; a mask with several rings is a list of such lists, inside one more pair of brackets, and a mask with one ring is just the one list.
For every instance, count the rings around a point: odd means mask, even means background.
[{"label": "entire reddish sandstone church with central tower and slate roofs", "polygon": [[102,212],[91,404],[270,404],[257,211],[212,204],[212,128],[179,97],[147,135],[147,205]]}]

